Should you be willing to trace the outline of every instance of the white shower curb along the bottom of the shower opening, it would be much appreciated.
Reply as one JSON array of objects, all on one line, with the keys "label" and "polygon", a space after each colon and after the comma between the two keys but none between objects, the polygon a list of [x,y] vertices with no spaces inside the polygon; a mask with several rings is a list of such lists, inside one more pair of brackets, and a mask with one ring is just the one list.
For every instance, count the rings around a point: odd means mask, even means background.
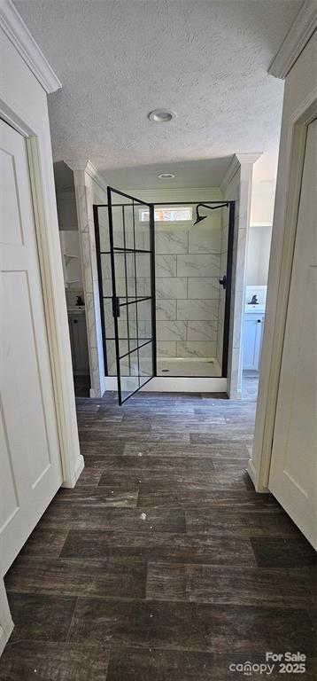
[{"label": "white shower curb along the bottom of the shower opening", "polygon": [[[105,376],[105,389],[117,390],[116,376]],[[227,379],[155,376],[141,388],[146,393],[227,393]]]}]

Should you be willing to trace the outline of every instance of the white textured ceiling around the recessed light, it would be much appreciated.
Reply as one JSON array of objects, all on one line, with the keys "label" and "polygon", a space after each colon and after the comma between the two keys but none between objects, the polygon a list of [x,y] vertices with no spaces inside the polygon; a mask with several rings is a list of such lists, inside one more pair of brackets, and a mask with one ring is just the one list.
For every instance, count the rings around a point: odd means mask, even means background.
[{"label": "white textured ceiling around the recessed light", "polygon": [[[174,168],[192,185],[192,161],[206,186],[233,153],[263,151],[274,175],[283,85],[267,68],[301,4],[16,0],[63,83],[49,97],[54,159],[87,157],[127,187],[154,187]],[[158,107],[177,118],[151,123]]]}]

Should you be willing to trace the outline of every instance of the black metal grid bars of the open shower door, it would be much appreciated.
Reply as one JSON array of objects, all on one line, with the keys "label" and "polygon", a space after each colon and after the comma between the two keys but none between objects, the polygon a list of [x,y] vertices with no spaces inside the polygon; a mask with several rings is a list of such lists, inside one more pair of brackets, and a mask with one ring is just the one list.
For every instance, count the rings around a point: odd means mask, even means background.
[{"label": "black metal grid bars of the open shower door", "polygon": [[[113,201],[112,201],[112,193],[119,194],[120,196],[124,196],[130,200],[129,203],[126,204],[114,204],[116,207],[121,207],[122,210],[122,234],[123,234],[123,247],[116,247],[114,245],[114,237],[113,237],[113,221],[112,221],[112,207],[113,207]],[[95,205],[94,206],[94,216],[95,216],[95,233],[96,233],[96,247],[97,247],[97,272],[98,272],[98,285],[99,285],[99,299],[100,299],[100,307],[101,307],[101,323],[102,323],[102,331],[103,331],[103,348],[104,348],[104,372],[105,375],[107,375],[107,359],[106,359],[106,340],[113,340],[115,343],[115,350],[116,350],[116,365],[117,365],[117,379],[118,379],[118,397],[119,397],[119,403],[123,404],[126,402],[126,400],[131,397],[131,395],[134,395],[137,390],[140,389],[140,387],[143,387],[146,383],[148,383],[153,376],[156,375],[156,314],[155,314],[155,253],[154,253],[154,245],[155,245],[155,239],[154,239],[154,207],[152,204],[146,203],[141,200],[137,200],[132,196],[129,196],[128,194],[125,194],[123,192],[120,192],[119,190],[112,189],[112,187],[107,188],[107,195],[108,195],[108,203],[106,205],[100,206],[100,205]],[[135,206],[139,205],[144,205],[147,208],[149,208],[149,242],[150,242],[150,248],[149,249],[143,249],[143,248],[136,248],[136,242],[135,242]],[[110,250],[109,251],[102,251],[100,247],[100,233],[99,233],[99,218],[98,218],[98,208],[99,207],[108,207],[108,220],[109,220],[109,242],[110,242]],[[127,247],[127,230],[126,230],[126,215],[125,215],[125,207],[130,207],[132,209],[132,226],[133,226],[133,248]],[[112,295],[104,295],[103,291],[103,271],[102,271],[102,262],[101,262],[101,256],[102,255],[110,255],[110,260],[111,260],[111,269],[112,269]],[[116,262],[115,262],[115,255],[116,254],[122,254],[123,259],[124,259],[124,279],[125,279],[125,294],[124,295],[117,295],[117,290],[116,290]],[[127,266],[127,254],[131,254],[132,256],[134,255],[134,295],[131,296],[128,291],[128,266]],[[137,294],[137,263],[136,263],[136,254],[149,254],[150,256],[150,266],[151,266],[151,276],[150,276],[150,282],[151,282],[151,295],[143,295],[143,296],[138,296]],[[131,277],[133,278],[133,277]],[[129,300],[132,298],[132,300]],[[120,299],[123,299],[123,301],[120,301]],[[112,300],[112,316],[113,316],[113,325],[114,325],[114,337],[109,337],[108,335],[105,334],[105,324],[104,324],[104,300]],[[151,338],[142,338],[139,336],[139,319],[138,319],[138,303],[143,302],[143,301],[151,301]],[[130,325],[129,325],[129,305],[135,304],[135,338],[130,335]],[[127,310],[127,320],[126,320],[126,325],[127,325],[127,338],[123,338],[120,335],[120,329],[119,329],[119,324],[118,324],[118,317],[120,317],[120,309],[126,309]],[[149,320],[150,321],[150,320]],[[127,340],[128,342],[128,352],[124,353],[123,355],[120,355],[120,341],[122,340]],[[132,343],[132,341],[135,340],[135,344]],[[140,342],[143,340],[144,342]],[[147,380],[144,380],[141,382],[141,372],[140,372],[140,350],[146,345],[149,345],[152,343],[152,372],[151,376]],[[135,345],[135,347],[134,347]],[[137,356],[137,374],[133,375],[131,374],[131,355],[133,353],[136,353]],[[129,392],[128,396],[125,397],[124,399],[122,398],[122,387],[121,387],[121,367],[120,367],[120,360],[124,359],[125,357],[128,357],[128,371],[129,371],[129,377],[131,378],[137,378],[138,380],[138,387],[134,390]]]}]

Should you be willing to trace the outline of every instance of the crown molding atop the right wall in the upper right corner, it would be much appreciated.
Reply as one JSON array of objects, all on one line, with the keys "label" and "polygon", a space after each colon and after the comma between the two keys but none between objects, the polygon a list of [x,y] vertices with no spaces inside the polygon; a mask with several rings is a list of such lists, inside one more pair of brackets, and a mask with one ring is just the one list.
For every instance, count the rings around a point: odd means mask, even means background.
[{"label": "crown molding atop the right wall in the upper right corner", "polygon": [[316,28],[317,5],[315,0],[305,0],[275,55],[268,73],[274,75],[275,78],[286,78]]}]

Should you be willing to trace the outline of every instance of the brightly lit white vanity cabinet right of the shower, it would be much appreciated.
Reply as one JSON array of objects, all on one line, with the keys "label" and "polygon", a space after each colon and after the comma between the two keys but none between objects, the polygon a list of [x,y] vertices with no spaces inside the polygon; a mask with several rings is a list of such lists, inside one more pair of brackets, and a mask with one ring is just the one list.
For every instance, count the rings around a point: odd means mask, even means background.
[{"label": "brightly lit white vanity cabinet right of the shower", "polygon": [[265,314],[254,311],[244,314],[244,369],[259,372]]}]

